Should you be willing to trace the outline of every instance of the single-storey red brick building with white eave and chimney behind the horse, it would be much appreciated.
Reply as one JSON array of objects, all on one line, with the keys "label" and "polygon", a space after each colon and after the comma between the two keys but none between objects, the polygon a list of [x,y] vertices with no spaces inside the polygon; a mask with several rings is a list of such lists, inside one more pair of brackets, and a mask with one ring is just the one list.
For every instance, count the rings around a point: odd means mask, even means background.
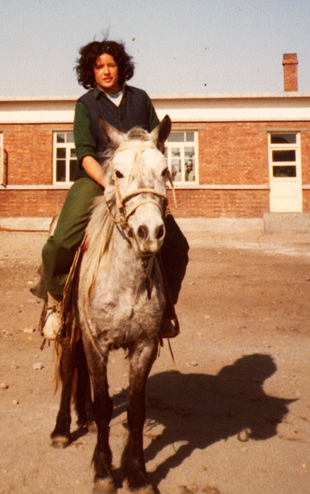
[{"label": "single-storey red brick building with white eave and chimney behind the horse", "polygon": [[[309,216],[310,93],[298,92],[297,64],[284,55],[281,93],[152,97],[159,118],[173,122],[176,217]],[[0,226],[60,210],[76,164],[75,101],[0,98]]]}]

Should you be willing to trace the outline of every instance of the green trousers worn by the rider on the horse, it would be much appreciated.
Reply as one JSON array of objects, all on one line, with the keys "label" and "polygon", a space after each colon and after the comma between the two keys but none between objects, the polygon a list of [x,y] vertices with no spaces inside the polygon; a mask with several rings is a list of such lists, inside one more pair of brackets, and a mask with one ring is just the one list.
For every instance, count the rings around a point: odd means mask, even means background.
[{"label": "green trousers worn by the rider on the horse", "polygon": [[[62,294],[75,252],[84,237],[94,198],[102,193],[102,187],[91,178],[79,178],[69,190],[56,229],[42,251],[45,284],[49,293]],[[171,302],[175,305],[186,272],[189,246],[171,214],[165,218],[165,227],[161,257]]]}]

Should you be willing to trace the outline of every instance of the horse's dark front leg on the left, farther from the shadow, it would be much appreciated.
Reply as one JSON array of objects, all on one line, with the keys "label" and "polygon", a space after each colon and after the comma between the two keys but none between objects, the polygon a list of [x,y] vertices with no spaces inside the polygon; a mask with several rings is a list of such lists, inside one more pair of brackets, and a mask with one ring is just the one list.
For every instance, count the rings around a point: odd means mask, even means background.
[{"label": "horse's dark front leg on the left, farther from the shadow", "polygon": [[108,392],[107,358],[99,355],[84,336],[84,347],[93,390],[93,412],[97,425],[97,444],[93,455],[94,494],[117,492],[112,476],[112,453],[109,445],[113,404]]}]

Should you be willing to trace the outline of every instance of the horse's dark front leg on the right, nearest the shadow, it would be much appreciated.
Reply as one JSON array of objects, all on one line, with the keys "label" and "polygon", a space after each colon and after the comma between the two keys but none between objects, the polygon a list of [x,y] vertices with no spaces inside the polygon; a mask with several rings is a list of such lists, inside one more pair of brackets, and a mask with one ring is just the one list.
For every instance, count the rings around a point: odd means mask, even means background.
[{"label": "horse's dark front leg on the right, nearest the shadow", "polygon": [[154,342],[150,347],[137,348],[130,357],[130,399],[127,410],[129,435],[122,457],[122,467],[128,488],[141,494],[154,494],[145,469],[143,426],[146,382],[156,358],[157,349],[157,343]]}]

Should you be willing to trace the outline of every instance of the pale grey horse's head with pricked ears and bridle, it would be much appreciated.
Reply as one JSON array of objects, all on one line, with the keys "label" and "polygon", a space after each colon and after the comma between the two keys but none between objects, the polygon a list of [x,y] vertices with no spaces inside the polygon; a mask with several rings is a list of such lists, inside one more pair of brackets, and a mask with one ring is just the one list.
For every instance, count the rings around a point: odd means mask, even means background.
[{"label": "pale grey horse's head with pricked ears and bridle", "polygon": [[134,128],[123,134],[103,119],[100,126],[114,151],[105,167],[107,203],[114,204],[117,222],[127,228],[139,255],[154,254],[165,236],[163,218],[169,171],[162,152],[171,120],[166,116],[151,133]]}]

